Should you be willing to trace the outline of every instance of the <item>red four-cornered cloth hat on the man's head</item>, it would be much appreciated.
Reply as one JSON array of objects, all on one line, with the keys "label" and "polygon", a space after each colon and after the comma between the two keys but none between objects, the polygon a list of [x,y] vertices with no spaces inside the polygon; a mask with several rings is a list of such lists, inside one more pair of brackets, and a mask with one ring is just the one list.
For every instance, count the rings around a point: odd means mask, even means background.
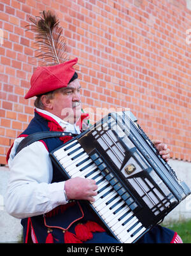
[{"label": "red four-cornered cloth hat on the man's head", "polygon": [[25,99],[67,87],[75,73],[73,66],[77,61],[78,58],[75,58],[55,66],[39,66],[31,77],[31,88]]}]

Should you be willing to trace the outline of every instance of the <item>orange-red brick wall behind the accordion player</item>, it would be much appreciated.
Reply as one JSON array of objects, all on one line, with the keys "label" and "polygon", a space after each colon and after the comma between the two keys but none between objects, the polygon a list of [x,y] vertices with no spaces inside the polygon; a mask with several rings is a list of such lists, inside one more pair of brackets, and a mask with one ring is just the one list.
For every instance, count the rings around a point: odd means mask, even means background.
[{"label": "orange-red brick wall behind the accordion player", "polygon": [[[190,35],[186,0],[1,0],[0,163],[33,116],[24,100],[36,63],[29,16],[55,10],[79,59],[83,109],[131,108],[171,157],[191,160]],[[107,110],[106,110],[107,111]]]}]

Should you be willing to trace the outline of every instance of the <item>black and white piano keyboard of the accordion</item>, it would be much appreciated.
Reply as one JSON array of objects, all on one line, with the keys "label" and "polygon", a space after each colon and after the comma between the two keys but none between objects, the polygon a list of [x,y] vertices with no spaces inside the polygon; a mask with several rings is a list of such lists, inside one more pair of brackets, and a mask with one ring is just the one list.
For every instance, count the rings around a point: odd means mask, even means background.
[{"label": "black and white piano keyboard of the accordion", "polygon": [[[54,152],[57,161],[73,177],[94,179],[98,186],[92,207],[121,243],[132,243],[146,228],[132,209],[138,207],[117,178],[108,172],[97,154],[88,156],[77,140]],[[96,159],[97,158],[97,159]],[[94,160],[94,161],[93,161]],[[99,168],[97,167],[99,166]]]}]

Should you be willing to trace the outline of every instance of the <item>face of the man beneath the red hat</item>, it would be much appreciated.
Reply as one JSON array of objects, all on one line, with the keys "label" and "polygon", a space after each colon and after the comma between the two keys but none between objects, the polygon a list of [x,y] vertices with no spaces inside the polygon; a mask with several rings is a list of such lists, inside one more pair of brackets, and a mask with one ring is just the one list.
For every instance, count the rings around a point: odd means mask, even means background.
[{"label": "face of the man beneath the red hat", "polygon": [[67,87],[55,91],[52,113],[62,120],[74,124],[81,116],[80,83],[73,80]]}]

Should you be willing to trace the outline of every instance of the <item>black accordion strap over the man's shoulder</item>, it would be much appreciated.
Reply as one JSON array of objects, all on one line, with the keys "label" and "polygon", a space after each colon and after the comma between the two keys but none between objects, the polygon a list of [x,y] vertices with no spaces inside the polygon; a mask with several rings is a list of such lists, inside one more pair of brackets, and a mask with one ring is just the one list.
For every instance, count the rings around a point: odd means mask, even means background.
[{"label": "black accordion strap over the man's shoulder", "polygon": [[38,140],[43,140],[43,139],[53,138],[53,137],[64,137],[64,136],[75,137],[76,135],[78,134],[70,133],[70,132],[36,132],[25,137],[25,139],[23,139],[22,142],[20,142],[20,144],[17,147],[16,154],[18,154],[18,152],[21,151],[21,149],[23,149],[24,147],[29,146],[30,144]]}]

